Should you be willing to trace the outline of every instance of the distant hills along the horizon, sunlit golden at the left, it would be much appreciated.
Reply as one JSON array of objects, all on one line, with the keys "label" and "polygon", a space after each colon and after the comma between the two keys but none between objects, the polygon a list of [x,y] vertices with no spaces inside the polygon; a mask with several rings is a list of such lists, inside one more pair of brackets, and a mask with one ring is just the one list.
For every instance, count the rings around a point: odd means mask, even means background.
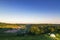
[{"label": "distant hills along the horizon, sunlit golden at the left", "polygon": [[[11,24],[11,23],[3,23],[0,22],[0,28],[19,28],[19,27],[26,27],[28,24]],[[60,24],[31,24],[35,26],[60,26]]]}]

